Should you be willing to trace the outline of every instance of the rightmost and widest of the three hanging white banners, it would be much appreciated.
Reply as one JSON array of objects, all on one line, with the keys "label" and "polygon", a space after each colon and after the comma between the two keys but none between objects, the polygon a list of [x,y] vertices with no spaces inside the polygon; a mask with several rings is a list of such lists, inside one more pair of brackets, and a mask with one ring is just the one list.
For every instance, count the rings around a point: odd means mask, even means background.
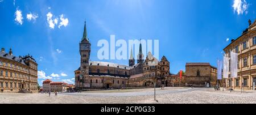
[{"label": "rightmost and widest of the three hanging white banners", "polygon": [[231,52],[231,62],[230,62],[230,71],[231,71],[231,77],[237,78],[237,62],[238,62],[238,54]]}]

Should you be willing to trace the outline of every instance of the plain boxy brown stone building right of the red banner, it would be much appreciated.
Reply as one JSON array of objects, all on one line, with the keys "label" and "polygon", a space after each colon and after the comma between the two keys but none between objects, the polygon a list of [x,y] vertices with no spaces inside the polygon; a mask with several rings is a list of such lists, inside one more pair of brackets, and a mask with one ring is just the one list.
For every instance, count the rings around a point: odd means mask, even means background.
[{"label": "plain boxy brown stone building right of the red banner", "polygon": [[206,83],[210,86],[217,84],[217,68],[210,63],[187,63],[185,71],[185,84],[196,87],[204,87]]}]

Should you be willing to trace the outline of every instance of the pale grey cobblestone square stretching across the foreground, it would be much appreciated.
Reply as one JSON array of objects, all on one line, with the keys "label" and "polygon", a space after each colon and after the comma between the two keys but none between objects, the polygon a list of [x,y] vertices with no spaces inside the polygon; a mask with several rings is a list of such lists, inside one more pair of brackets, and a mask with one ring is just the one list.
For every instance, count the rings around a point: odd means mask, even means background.
[{"label": "pale grey cobblestone square stretching across the foreground", "polygon": [[166,87],[136,90],[88,91],[82,93],[0,93],[1,104],[255,104],[255,91],[214,91],[206,88]]}]

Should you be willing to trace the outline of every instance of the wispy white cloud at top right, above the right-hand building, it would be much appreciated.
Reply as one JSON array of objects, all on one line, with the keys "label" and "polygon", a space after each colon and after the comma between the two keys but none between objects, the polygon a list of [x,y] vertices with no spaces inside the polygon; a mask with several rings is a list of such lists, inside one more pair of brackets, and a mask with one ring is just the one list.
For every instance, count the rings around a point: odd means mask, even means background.
[{"label": "wispy white cloud at top right, above the right-hand building", "polygon": [[248,4],[245,0],[234,0],[233,2],[233,9],[234,12],[237,12],[238,15],[243,14],[243,12],[245,12],[245,14],[248,13],[247,9],[248,9]]}]

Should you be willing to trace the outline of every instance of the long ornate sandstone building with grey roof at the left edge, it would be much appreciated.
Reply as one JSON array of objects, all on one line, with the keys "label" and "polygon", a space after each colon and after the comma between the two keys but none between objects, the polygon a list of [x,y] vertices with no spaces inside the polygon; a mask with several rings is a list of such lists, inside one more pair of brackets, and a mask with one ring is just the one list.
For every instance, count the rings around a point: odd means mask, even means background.
[{"label": "long ornate sandstone building with grey roof at the left edge", "polygon": [[1,92],[38,92],[38,64],[27,56],[13,56],[2,48],[0,52]]}]

